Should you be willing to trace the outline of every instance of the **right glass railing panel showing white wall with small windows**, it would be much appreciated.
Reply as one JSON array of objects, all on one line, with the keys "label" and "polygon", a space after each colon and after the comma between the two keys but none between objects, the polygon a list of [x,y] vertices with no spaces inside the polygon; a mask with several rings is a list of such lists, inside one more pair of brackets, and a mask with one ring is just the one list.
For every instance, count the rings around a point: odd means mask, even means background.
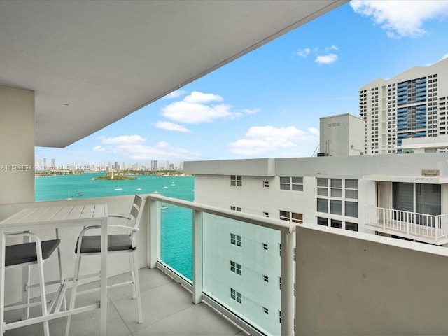
[{"label": "right glass railing panel showing white wall with small windows", "polygon": [[280,335],[280,232],[204,214],[203,233],[204,293]]}]

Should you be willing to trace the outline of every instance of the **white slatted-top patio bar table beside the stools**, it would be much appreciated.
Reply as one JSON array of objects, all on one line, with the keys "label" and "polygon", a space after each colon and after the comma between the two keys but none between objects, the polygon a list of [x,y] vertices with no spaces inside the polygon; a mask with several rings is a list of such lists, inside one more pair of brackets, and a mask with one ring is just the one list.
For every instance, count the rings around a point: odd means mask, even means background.
[{"label": "white slatted-top patio bar table beside the stools", "polygon": [[[32,207],[23,209],[17,214],[10,216],[3,221],[0,221],[0,335],[3,335],[5,330],[18,328],[22,325],[29,325],[31,323],[40,323],[45,320],[52,320],[54,318],[69,316],[71,314],[78,314],[80,312],[96,309],[98,305],[91,305],[73,310],[57,311],[48,316],[38,316],[36,318],[29,318],[25,321],[5,324],[3,321],[4,309],[4,290],[5,290],[5,248],[6,248],[6,234],[10,232],[25,232],[41,229],[56,229],[68,228],[71,226],[87,226],[87,225],[101,225],[101,276],[100,283],[100,328],[101,336],[106,336],[106,314],[107,314],[107,219],[108,210],[106,204],[92,204],[92,205],[74,205],[64,207]],[[73,238],[74,239],[74,238]],[[64,293],[62,292],[62,295]]]}]

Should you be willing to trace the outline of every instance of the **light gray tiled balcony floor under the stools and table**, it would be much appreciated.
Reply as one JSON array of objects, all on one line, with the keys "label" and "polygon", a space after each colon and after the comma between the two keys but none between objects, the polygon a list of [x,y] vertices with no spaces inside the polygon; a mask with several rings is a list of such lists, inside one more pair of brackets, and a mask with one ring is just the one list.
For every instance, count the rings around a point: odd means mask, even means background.
[{"label": "light gray tiled balcony floor under the stools and table", "polygon": [[[125,275],[109,278],[109,283],[121,281]],[[159,269],[139,270],[144,323],[137,323],[137,302],[132,300],[130,286],[109,290],[107,335],[246,335],[207,304],[193,304],[192,294]],[[85,287],[97,286],[88,283]],[[69,297],[69,290],[67,297]],[[99,293],[98,293],[99,297]],[[97,300],[96,295],[82,295],[76,306]],[[7,321],[17,320],[20,313],[9,314]],[[66,318],[50,321],[50,335],[64,335]],[[5,336],[43,335],[41,323],[8,330]],[[71,336],[99,335],[99,309],[74,315]]]}]

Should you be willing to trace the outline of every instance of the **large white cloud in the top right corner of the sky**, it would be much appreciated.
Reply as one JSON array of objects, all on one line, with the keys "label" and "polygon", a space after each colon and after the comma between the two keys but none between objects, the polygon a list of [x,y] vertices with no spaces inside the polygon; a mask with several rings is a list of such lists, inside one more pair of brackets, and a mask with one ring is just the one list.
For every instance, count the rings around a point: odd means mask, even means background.
[{"label": "large white cloud in the top right corner of the sky", "polygon": [[421,37],[426,34],[423,22],[448,16],[448,1],[440,0],[353,0],[350,5],[356,13],[371,17],[375,25],[381,25],[393,38]]}]

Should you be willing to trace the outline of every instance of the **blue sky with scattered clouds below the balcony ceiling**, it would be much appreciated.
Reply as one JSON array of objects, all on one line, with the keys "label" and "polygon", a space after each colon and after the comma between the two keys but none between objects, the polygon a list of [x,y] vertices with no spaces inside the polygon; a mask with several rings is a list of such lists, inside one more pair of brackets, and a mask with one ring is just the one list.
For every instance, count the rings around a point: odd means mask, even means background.
[{"label": "blue sky with scattered clouds below the balcony ceiling", "polygon": [[57,165],[311,156],[358,89],[448,57],[448,1],[351,1],[66,148]]}]

